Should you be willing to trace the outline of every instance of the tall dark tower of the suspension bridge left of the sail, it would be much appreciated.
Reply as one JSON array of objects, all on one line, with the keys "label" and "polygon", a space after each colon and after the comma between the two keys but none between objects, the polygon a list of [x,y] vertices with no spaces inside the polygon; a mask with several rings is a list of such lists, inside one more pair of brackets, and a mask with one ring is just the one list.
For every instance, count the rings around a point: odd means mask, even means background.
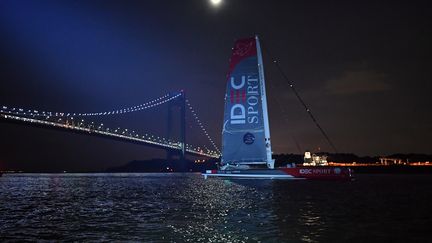
[{"label": "tall dark tower of the suspension bridge left of the sail", "polygon": [[[179,93],[171,93],[171,96],[176,96]],[[174,122],[173,117],[175,116],[175,113],[179,111],[179,122]],[[167,161],[172,161],[173,157],[175,155],[179,156],[179,160],[181,162],[185,159],[186,154],[186,96],[184,91],[180,91],[180,96],[176,99],[172,100],[171,102],[168,102],[168,119],[167,119],[167,138],[173,139],[173,128],[175,125],[180,125],[180,150],[173,150],[173,149],[167,149]]]}]

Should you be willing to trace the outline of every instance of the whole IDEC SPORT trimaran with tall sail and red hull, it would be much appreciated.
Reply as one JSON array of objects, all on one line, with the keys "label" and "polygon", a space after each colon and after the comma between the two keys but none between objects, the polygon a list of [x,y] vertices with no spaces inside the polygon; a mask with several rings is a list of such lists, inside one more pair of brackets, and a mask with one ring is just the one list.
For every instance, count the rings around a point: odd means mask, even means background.
[{"label": "whole IDEC SPORT trimaran with tall sail and red hull", "polygon": [[275,168],[272,159],[264,66],[258,36],[239,39],[227,74],[222,157],[218,170],[204,177],[263,179],[351,179],[350,168]]}]

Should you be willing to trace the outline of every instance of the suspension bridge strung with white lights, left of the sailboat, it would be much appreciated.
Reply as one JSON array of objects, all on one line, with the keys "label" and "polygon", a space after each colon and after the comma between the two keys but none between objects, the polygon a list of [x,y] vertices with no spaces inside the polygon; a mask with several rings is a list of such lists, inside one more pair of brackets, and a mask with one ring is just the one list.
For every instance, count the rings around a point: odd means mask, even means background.
[{"label": "suspension bridge strung with white lights, left of the sailboat", "polygon": [[[94,122],[85,122],[84,118],[89,117],[106,117],[121,116],[127,113],[143,112],[148,109],[156,109],[162,105],[168,105],[168,137],[160,137],[154,134],[138,134],[132,129],[120,129],[105,127],[104,123],[95,124]],[[171,138],[172,130],[172,113],[174,108],[180,109],[180,138],[174,140]],[[186,113],[189,112],[202,134],[206,137],[212,148],[201,145],[191,145],[186,143]],[[99,112],[53,112],[40,111],[34,109],[24,109],[9,106],[0,106],[0,121],[12,122],[27,126],[37,126],[49,129],[57,129],[74,133],[81,133],[91,136],[109,138],[124,142],[142,144],[167,151],[167,157],[170,159],[173,155],[179,155],[180,160],[184,159],[186,154],[195,156],[204,156],[208,158],[219,158],[220,150],[214,140],[208,134],[202,121],[199,119],[195,109],[186,99],[183,91],[167,93],[146,103],[125,107],[115,110],[106,110]]]}]

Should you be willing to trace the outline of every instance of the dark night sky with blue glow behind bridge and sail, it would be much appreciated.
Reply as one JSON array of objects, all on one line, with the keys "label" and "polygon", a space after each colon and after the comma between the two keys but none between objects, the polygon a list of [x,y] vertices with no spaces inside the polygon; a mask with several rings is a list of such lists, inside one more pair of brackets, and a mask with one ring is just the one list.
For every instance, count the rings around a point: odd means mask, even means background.
[{"label": "dark night sky with blue glow behind bridge and sail", "polygon": [[[275,153],[432,153],[432,8],[409,1],[0,1],[0,105],[110,110],[184,89],[221,144],[234,40],[258,34]],[[165,108],[95,122],[166,134]],[[189,114],[190,115],[190,114]],[[188,121],[188,143],[206,143]],[[0,169],[100,170],[163,150],[0,123]],[[209,143],[206,143],[209,144]]]}]

